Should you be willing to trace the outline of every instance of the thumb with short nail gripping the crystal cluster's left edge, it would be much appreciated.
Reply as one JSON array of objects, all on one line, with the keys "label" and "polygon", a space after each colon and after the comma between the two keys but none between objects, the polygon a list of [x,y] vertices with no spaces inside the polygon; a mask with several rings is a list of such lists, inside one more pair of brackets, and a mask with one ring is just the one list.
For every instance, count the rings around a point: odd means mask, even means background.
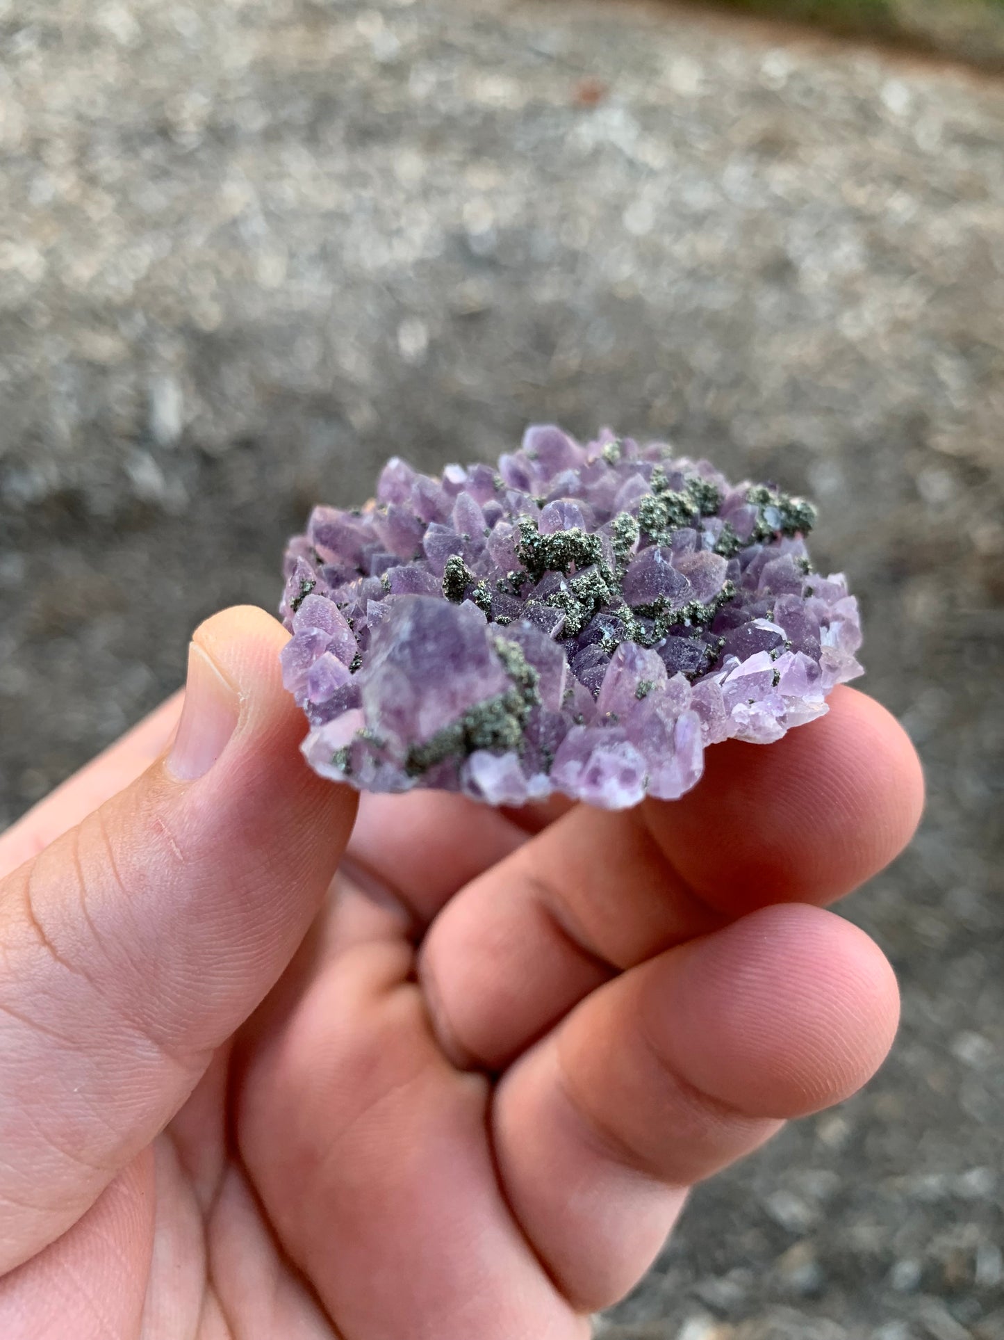
[{"label": "thumb with short nail gripping the crystal cluster's left edge", "polygon": [[285,638],[203,623],[167,757],[0,882],[0,1273],[167,1124],[324,898],[355,796],[300,754]]}]

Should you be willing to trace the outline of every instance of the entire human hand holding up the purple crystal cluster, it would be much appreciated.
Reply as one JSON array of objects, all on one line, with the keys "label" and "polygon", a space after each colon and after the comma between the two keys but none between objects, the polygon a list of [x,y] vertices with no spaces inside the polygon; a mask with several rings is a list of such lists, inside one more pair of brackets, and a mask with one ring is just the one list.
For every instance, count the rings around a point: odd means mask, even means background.
[{"label": "entire human hand holding up the purple crystal cluster", "polygon": [[179,697],[0,839],[0,1335],[588,1336],[688,1186],[885,1056],[892,970],[821,907],[916,756],[838,689],[669,804],[352,831],[284,638],[210,619],[174,742]]}]

